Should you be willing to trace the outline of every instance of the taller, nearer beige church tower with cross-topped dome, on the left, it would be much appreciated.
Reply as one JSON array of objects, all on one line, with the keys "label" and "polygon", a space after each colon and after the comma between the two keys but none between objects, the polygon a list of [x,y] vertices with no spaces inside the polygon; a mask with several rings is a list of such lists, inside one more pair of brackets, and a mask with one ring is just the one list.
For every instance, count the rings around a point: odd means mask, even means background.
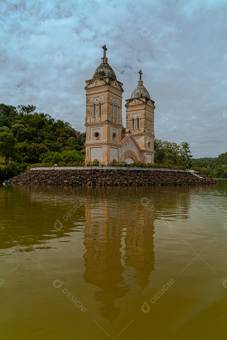
[{"label": "taller, nearer beige church tower with cross-topped dome, on the left", "polygon": [[101,64],[86,83],[86,163],[121,160],[122,83],[108,64],[106,45]]}]

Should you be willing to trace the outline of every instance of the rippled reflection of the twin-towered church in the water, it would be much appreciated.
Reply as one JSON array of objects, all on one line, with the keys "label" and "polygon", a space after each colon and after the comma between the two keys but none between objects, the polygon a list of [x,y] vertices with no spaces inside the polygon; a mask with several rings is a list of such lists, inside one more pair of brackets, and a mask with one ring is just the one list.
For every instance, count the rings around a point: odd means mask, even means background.
[{"label": "rippled reflection of the twin-towered church in the water", "polygon": [[154,217],[149,206],[140,203],[132,209],[132,204],[113,203],[111,196],[100,203],[100,208],[95,200],[86,206],[84,280],[100,288],[94,293],[102,305],[100,316],[112,322],[120,313],[116,300],[133,288],[132,283],[126,283],[126,270],[140,290],[150,283]]}]

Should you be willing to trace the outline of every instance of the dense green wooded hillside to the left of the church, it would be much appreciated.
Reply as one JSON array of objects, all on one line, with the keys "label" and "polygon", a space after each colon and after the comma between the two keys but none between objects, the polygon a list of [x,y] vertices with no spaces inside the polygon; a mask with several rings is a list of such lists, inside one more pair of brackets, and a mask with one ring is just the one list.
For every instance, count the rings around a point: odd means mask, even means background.
[{"label": "dense green wooded hillside to the left of the church", "polygon": [[35,109],[0,104],[0,153],[5,163],[84,161],[85,133]]}]

